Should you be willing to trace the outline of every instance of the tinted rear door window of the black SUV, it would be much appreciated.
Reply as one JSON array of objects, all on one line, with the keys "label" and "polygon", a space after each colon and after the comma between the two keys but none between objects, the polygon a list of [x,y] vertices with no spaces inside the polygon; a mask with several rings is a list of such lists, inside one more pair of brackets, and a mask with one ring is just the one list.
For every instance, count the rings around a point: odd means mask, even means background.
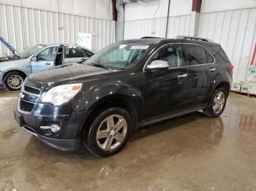
[{"label": "tinted rear door window of the black SUV", "polygon": [[185,50],[189,65],[214,63],[214,58],[203,47],[193,44],[186,44]]}]

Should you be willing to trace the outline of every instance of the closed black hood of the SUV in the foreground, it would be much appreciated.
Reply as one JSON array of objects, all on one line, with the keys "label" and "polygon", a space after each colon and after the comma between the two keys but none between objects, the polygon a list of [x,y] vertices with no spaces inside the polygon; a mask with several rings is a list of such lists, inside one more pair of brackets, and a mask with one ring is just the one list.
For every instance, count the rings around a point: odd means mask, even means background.
[{"label": "closed black hood of the SUV in the foreground", "polygon": [[30,74],[27,77],[26,84],[40,88],[43,84],[48,86],[52,84],[59,85],[69,82],[84,82],[94,77],[99,78],[99,74],[105,74],[101,76],[107,77],[108,74],[113,72],[116,71],[89,66],[86,64],[69,64],[56,66],[52,69]]}]

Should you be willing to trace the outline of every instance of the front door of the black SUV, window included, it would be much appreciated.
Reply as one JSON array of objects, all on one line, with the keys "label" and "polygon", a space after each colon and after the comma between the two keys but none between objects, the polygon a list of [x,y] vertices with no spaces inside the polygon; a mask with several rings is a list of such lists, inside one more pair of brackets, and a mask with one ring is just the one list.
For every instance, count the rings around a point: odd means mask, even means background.
[{"label": "front door of the black SUV, window included", "polygon": [[145,71],[144,117],[157,117],[183,110],[187,98],[187,67],[181,44],[166,44],[148,61],[167,61],[169,69]]}]

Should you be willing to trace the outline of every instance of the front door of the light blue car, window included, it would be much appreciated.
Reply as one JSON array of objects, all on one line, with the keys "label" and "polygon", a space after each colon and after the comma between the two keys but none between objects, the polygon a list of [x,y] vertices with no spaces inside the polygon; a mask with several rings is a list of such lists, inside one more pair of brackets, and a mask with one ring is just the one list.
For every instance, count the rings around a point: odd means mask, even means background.
[{"label": "front door of the light blue car, window included", "polygon": [[58,47],[48,47],[39,52],[36,57],[31,58],[31,70],[37,72],[48,69],[55,65],[56,55],[59,51]]}]

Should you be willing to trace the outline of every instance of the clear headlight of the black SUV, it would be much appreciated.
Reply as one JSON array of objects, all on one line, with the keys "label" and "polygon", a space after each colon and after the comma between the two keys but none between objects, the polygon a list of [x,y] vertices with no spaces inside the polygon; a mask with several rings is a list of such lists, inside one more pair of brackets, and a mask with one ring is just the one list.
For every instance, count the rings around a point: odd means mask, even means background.
[{"label": "clear headlight of the black SUV", "polygon": [[50,102],[54,106],[59,106],[72,99],[81,88],[81,83],[53,87],[42,97],[42,102]]}]

